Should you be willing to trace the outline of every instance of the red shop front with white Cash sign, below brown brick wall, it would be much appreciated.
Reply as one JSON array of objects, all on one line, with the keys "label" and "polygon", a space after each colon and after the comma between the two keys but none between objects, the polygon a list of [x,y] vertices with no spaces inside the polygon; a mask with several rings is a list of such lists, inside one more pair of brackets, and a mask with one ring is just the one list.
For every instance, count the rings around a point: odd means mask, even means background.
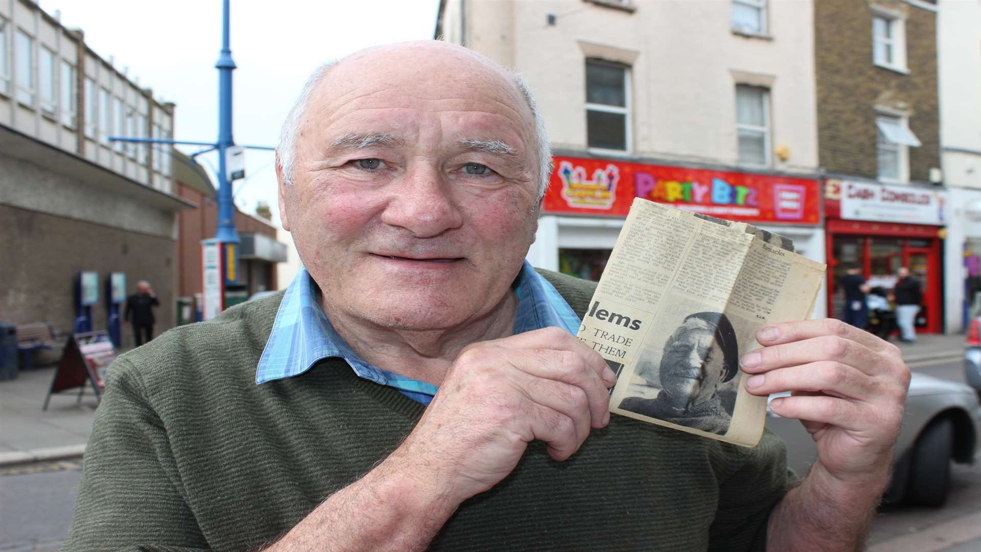
[{"label": "red shop front with white Cash sign, below brown brick wall", "polygon": [[887,293],[905,266],[923,292],[917,330],[943,332],[945,193],[839,179],[826,180],[824,190],[828,312],[842,317],[845,299],[837,282],[850,266]]}]

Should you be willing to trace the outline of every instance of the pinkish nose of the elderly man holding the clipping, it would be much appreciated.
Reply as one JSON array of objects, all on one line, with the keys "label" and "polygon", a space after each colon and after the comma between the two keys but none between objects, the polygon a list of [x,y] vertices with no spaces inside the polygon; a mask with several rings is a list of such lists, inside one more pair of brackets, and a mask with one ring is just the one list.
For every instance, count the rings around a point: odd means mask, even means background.
[{"label": "pinkish nose of the elderly man holding the clipping", "polygon": [[458,228],[463,216],[439,169],[414,167],[402,176],[401,186],[393,187],[382,222],[405,228],[417,238],[431,238]]}]

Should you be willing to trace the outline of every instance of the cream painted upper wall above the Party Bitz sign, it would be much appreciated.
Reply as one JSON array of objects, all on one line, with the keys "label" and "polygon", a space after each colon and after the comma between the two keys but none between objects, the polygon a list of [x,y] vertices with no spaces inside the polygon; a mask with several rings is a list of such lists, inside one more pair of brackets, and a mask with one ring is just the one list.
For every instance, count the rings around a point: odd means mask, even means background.
[{"label": "cream painted upper wall above the Party Bitz sign", "polygon": [[[587,52],[633,58],[634,155],[737,164],[735,85],[771,82],[773,168],[817,168],[813,8],[769,2],[769,36],[736,34],[730,3],[636,2],[633,13],[585,2],[466,3],[466,45],[522,73],[557,148],[585,149]],[[548,26],[553,14],[556,24]],[[458,12],[443,26],[458,26]],[[737,78],[735,74],[741,75]]]}]

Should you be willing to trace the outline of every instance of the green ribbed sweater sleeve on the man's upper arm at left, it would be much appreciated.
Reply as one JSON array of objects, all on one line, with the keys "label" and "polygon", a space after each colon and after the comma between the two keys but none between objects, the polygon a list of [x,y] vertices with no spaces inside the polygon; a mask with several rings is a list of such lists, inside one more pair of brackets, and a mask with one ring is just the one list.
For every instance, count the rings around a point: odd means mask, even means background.
[{"label": "green ribbed sweater sleeve on the man's upper arm at left", "polygon": [[131,368],[124,358],[110,370],[62,550],[207,550],[181,496],[163,422]]}]

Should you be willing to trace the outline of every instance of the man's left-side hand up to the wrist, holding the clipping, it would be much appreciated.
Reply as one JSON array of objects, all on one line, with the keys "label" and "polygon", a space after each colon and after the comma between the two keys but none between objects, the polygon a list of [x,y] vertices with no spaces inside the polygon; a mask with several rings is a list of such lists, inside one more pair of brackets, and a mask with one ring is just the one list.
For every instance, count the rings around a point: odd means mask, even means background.
[{"label": "man's left-side hand up to the wrist, holding the clipping", "polygon": [[471,345],[386,462],[462,502],[510,473],[534,439],[555,460],[572,456],[609,422],[614,383],[599,354],[558,328]]}]

